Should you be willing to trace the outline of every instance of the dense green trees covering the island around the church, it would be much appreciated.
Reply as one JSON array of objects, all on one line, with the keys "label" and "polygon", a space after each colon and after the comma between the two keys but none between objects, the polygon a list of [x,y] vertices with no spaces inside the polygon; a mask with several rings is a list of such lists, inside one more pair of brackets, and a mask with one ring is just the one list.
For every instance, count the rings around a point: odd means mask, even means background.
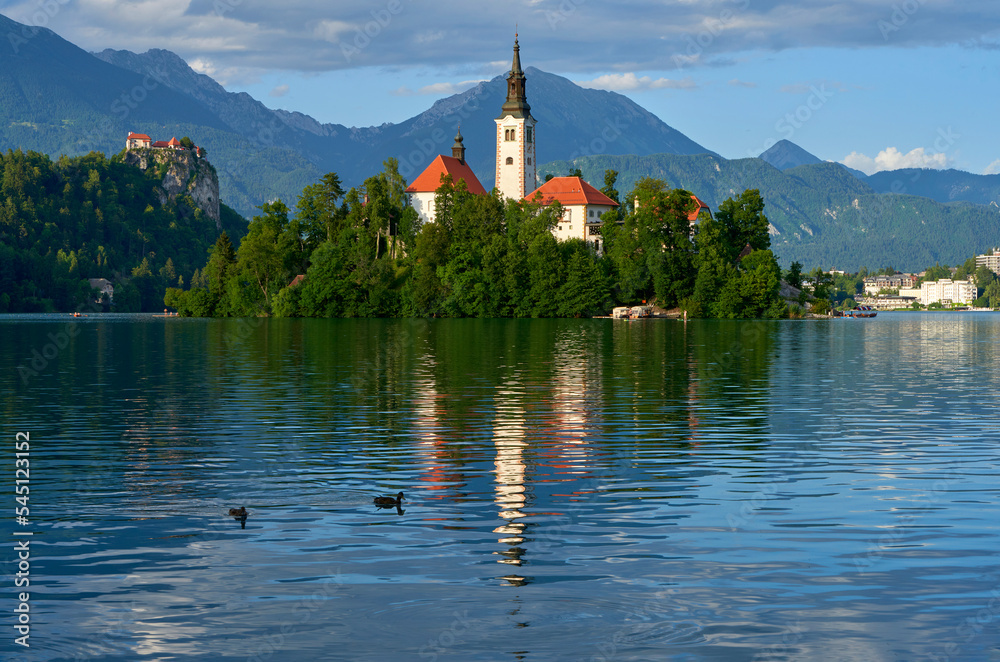
[{"label": "dense green trees covering the island around the church", "polygon": [[[606,172],[602,189],[615,200],[616,177]],[[164,301],[199,316],[579,317],[654,300],[693,315],[786,314],[756,191],[692,234],[691,194],[642,180],[626,197],[637,205],[604,215],[598,253],[555,239],[558,203],[474,195],[446,178],[423,224],[405,189],[394,159],[346,193],[330,173],[294,210],[262,205],[238,250],[219,237],[192,287]]]}]

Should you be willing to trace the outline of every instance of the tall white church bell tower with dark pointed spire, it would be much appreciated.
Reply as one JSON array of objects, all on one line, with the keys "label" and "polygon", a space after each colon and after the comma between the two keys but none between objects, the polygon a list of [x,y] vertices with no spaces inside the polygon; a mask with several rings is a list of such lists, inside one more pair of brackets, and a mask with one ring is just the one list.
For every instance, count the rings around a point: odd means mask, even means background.
[{"label": "tall white church bell tower with dark pointed spire", "polygon": [[524,92],[520,46],[514,35],[514,61],[507,74],[507,101],[497,123],[496,186],[505,198],[520,200],[537,188],[535,178],[535,118]]}]

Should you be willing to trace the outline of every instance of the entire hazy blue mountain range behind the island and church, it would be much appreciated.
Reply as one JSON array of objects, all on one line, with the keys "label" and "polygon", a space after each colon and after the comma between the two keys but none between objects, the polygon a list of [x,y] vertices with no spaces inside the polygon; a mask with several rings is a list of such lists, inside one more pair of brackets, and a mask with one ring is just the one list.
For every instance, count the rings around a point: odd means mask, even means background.
[{"label": "entire hazy blue mountain range behind the island and church", "polygon": [[[327,172],[348,186],[360,184],[389,157],[412,181],[437,154],[450,153],[461,127],[470,166],[486,188],[493,185],[502,76],[398,124],[347,127],[228,92],[169,51],[88,53],[2,15],[0,34],[20,35],[0,49],[5,149],[113,154],[129,131],[154,139],[187,135],[216,166],[223,200],[249,217],[268,200],[294,204],[304,186]],[[614,168],[622,193],[642,176],[662,177],[713,208],[744,188],[759,188],[785,263],[850,269],[888,261],[912,270],[1000,245],[1000,175],[906,170],[867,177],[788,141],[760,158],[727,160],[625,96],[533,67],[526,75],[542,175],[580,167],[600,185],[603,169]]]}]

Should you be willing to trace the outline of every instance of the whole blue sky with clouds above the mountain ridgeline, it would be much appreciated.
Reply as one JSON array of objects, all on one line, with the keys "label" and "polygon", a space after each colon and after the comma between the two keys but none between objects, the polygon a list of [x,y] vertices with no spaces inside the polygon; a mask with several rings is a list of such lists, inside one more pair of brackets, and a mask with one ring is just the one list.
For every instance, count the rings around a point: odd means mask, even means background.
[{"label": "whole blue sky with clouds above the mountain ridgeline", "polygon": [[90,51],[167,49],[229,91],[347,126],[504,74],[516,32],[523,66],[624,94],[727,158],[787,139],[867,173],[1000,173],[997,0],[0,0],[0,13]]}]

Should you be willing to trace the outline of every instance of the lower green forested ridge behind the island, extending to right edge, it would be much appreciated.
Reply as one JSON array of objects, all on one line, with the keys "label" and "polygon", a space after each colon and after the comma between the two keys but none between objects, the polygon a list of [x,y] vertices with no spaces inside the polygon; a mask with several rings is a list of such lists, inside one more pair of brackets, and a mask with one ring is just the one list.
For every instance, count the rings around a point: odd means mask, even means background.
[{"label": "lower green forested ridge behind the island, extending to right edge", "polygon": [[771,243],[785,266],[800,262],[857,271],[891,260],[903,270],[918,271],[935,262],[955,264],[1000,245],[1000,210],[995,206],[918,197],[924,183],[944,177],[938,173],[927,172],[919,181],[899,173],[898,181],[892,179],[888,186],[893,193],[876,192],[835,163],[781,171],[761,159],[708,154],[586,156],[540,166],[539,173],[574,167],[590,181],[606,169],[617,170],[623,186],[659,177],[694,191],[713,209],[731,191],[757,189],[767,200],[776,233]]}]

